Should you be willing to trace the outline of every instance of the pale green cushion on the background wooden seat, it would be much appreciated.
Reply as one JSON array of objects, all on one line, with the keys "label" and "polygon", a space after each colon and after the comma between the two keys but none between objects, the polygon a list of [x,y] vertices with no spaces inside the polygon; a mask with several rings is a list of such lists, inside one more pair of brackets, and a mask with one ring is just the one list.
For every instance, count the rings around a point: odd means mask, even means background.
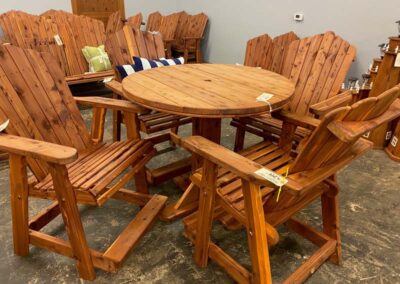
[{"label": "pale green cushion on the background wooden seat", "polygon": [[89,63],[89,72],[111,70],[111,62],[104,49],[104,45],[100,45],[99,47],[85,46],[82,48],[82,53]]}]

